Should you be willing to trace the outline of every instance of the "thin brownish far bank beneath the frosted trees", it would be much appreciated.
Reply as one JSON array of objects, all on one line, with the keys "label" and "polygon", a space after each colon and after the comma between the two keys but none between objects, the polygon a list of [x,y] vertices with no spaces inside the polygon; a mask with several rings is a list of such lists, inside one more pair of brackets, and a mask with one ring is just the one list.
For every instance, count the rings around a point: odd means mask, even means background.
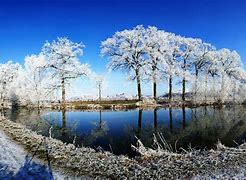
[{"label": "thin brownish far bank beneath the frosted trees", "polygon": [[[88,111],[98,111],[98,110],[132,110],[132,109],[158,109],[158,108],[198,108],[198,107],[215,107],[221,108],[223,106],[235,106],[235,105],[246,105],[244,102],[210,102],[210,103],[194,103],[191,101],[160,101],[158,103],[146,103],[139,102],[136,100],[130,101],[104,101],[103,103],[99,103],[97,101],[83,101],[83,102],[68,102],[64,105],[60,103],[49,104],[49,105],[41,105],[39,108],[35,105],[29,106],[13,106],[15,108],[26,108],[26,109],[50,109],[50,110],[88,110]],[[11,109],[13,107],[7,107],[2,109]]]}]

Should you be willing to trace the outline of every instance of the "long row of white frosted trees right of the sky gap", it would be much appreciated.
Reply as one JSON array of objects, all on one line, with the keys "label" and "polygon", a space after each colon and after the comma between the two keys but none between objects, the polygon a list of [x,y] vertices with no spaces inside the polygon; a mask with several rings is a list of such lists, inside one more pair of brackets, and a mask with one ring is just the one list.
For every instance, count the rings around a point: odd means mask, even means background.
[{"label": "long row of white frosted trees right of the sky gap", "polygon": [[131,80],[136,80],[139,100],[142,80],[152,81],[155,99],[157,83],[166,80],[172,100],[176,80],[182,84],[182,100],[185,100],[186,84],[190,82],[193,100],[199,97],[207,101],[210,96],[210,100],[224,101],[232,93],[235,98],[239,93],[236,86],[242,85],[246,78],[236,51],[216,50],[201,39],[181,37],[156,27],[136,26],[116,32],[102,42],[101,53],[108,57],[109,69],[126,71]]}]

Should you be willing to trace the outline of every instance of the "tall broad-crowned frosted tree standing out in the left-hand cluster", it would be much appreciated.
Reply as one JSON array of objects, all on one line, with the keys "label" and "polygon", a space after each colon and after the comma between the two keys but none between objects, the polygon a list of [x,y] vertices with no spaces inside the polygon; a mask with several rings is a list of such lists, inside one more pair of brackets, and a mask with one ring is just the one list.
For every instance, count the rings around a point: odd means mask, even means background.
[{"label": "tall broad-crowned frosted tree standing out in the left-hand cluster", "polygon": [[62,103],[65,103],[66,85],[72,79],[80,76],[89,76],[91,70],[88,64],[81,64],[79,56],[83,55],[84,45],[74,43],[68,38],[46,42],[42,47],[42,55],[45,56],[46,70],[51,74],[55,84],[51,89],[61,89]]}]

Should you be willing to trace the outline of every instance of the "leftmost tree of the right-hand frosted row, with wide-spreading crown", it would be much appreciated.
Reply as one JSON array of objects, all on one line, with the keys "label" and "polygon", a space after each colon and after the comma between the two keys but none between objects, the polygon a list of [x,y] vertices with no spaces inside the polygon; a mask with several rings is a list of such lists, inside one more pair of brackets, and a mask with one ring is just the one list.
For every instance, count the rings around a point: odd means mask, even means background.
[{"label": "leftmost tree of the right-hand frosted row, with wide-spreading crown", "polygon": [[142,99],[141,79],[146,65],[145,28],[136,26],[116,32],[101,43],[101,54],[109,58],[110,70],[123,70],[137,81],[138,99]]}]

